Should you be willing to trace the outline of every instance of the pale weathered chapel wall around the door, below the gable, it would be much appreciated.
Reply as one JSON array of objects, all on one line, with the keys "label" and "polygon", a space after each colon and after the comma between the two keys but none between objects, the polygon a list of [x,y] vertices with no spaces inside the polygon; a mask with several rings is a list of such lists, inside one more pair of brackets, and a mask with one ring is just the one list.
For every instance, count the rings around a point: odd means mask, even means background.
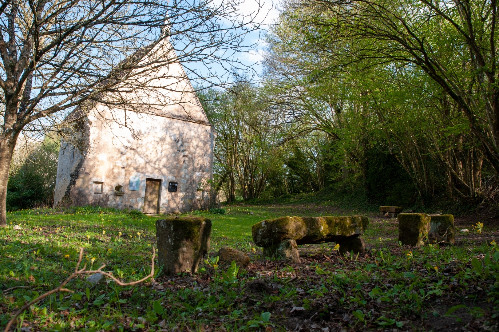
[{"label": "pale weathered chapel wall around the door, below the gable", "polygon": [[[128,128],[109,121],[110,116],[126,119]],[[207,121],[120,110],[111,113],[98,106],[85,124],[90,147],[83,162],[83,156],[77,149],[73,153],[71,146],[62,144],[59,151],[55,204],[69,193],[70,204],[76,206],[142,210],[146,179],[152,178],[161,180],[160,213],[208,208],[214,135]],[[138,190],[129,190],[130,177],[140,178]],[[177,192],[168,192],[170,181],[178,182]],[[102,193],[94,192],[98,182],[103,183]],[[115,193],[118,185],[123,187],[122,196]]]}]

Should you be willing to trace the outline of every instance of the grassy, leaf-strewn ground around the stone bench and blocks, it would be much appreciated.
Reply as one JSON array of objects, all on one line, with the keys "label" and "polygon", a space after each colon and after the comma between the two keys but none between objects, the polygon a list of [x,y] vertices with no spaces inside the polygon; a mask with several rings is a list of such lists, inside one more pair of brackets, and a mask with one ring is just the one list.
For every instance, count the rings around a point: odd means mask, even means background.
[{"label": "grassy, leaf-strewn ground around the stone bench and blocks", "polygon": [[[195,275],[157,275],[131,287],[74,279],[21,316],[16,331],[496,331],[498,232],[462,233],[456,246],[401,248],[397,220],[370,214],[367,254],[339,257],[334,243],[300,246],[301,264],[261,256],[251,225],[283,215],[361,214],[318,204],[231,206],[212,220],[208,264]],[[10,212],[0,230],[0,326],[74,270],[79,248],[93,268],[123,281],[150,272],[157,216],[112,209]],[[13,226],[19,225],[20,230]],[[470,228],[471,230],[471,228]],[[221,246],[250,255],[247,269],[214,266]],[[5,292],[11,287],[19,287]],[[21,330],[22,329],[22,330]],[[464,329],[464,330],[463,330]]]}]

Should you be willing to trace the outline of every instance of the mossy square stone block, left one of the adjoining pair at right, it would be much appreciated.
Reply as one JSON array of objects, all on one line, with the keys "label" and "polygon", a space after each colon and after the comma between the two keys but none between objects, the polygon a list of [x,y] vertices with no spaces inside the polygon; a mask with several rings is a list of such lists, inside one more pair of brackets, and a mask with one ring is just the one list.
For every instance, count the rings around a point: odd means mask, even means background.
[{"label": "mossy square stone block, left one of the adjoining pair at right", "polygon": [[425,213],[401,213],[399,221],[399,241],[403,246],[420,247],[425,233],[430,231],[431,217]]}]

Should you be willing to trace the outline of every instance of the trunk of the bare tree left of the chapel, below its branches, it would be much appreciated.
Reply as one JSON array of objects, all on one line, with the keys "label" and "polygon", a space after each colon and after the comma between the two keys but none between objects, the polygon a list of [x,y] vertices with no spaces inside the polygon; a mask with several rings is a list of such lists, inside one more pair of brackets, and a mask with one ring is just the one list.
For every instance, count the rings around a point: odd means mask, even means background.
[{"label": "trunk of the bare tree left of the chapel, below its branches", "polygon": [[0,227],[7,225],[7,183],[16,138],[0,138]]}]

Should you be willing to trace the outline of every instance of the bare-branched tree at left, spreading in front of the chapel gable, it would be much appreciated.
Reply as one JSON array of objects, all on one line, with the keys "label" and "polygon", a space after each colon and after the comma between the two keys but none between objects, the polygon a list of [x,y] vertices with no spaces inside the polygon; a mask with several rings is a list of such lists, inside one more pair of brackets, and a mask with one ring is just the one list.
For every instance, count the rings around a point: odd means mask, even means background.
[{"label": "bare-branched tree at left, spreading in front of the chapel gable", "polygon": [[[258,28],[254,17],[260,6],[241,15],[240,4],[240,0],[1,2],[0,226],[6,224],[8,171],[21,132],[40,136],[54,130],[75,108],[97,103],[141,111],[150,99],[131,93],[140,87],[156,94],[156,104],[171,103],[166,95],[182,90],[182,84],[159,89],[154,82],[185,80],[185,73],[178,77],[178,71],[163,70],[173,63],[195,63],[184,65],[191,77],[219,84],[224,75],[213,68],[227,72],[238,67],[235,52],[245,47],[245,33]],[[199,63],[205,64],[204,70]]]}]

